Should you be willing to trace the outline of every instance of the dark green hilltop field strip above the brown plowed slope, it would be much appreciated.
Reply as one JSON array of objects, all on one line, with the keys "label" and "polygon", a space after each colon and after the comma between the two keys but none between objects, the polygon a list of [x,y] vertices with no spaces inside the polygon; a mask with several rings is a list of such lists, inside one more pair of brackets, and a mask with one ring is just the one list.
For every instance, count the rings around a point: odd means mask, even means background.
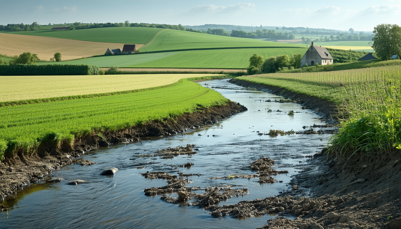
[{"label": "dark green hilltop field strip above the brown plowed slope", "polygon": [[[77,30],[36,30],[9,32],[12,34],[47,36],[80,41],[109,43],[147,44],[161,28],[145,27],[109,27]],[[62,44],[61,44],[62,45]]]}]

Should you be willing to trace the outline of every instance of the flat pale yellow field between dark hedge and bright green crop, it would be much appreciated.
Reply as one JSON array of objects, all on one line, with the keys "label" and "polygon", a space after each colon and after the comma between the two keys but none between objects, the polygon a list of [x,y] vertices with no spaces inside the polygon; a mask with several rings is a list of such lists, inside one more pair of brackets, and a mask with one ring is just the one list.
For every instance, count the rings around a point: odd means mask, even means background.
[{"label": "flat pale yellow field between dark hedge and bright green crop", "polygon": [[210,74],[0,76],[0,102],[159,87]]}]

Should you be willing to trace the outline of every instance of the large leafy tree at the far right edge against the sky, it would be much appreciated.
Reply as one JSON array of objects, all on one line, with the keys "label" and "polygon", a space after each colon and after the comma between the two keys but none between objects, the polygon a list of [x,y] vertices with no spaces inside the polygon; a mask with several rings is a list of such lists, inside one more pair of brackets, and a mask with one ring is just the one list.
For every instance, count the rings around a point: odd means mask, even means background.
[{"label": "large leafy tree at the far right edge against the sky", "polygon": [[401,27],[397,24],[379,24],[373,29],[373,45],[377,57],[389,60],[401,54]]}]

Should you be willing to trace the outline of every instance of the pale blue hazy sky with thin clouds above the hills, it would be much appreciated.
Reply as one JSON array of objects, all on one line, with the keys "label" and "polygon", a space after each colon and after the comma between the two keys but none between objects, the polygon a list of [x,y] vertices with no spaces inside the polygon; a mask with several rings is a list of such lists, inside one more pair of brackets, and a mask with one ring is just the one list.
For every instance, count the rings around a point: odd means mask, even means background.
[{"label": "pale blue hazy sky with thin clouds above the hills", "polygon": [[401,26],[401,0],[1,0],[0,24],[146,22],[372,31]]}]

